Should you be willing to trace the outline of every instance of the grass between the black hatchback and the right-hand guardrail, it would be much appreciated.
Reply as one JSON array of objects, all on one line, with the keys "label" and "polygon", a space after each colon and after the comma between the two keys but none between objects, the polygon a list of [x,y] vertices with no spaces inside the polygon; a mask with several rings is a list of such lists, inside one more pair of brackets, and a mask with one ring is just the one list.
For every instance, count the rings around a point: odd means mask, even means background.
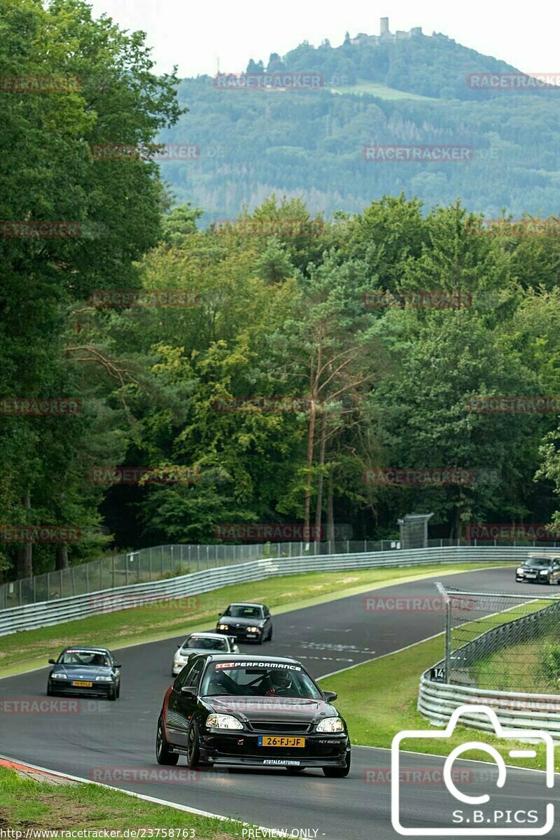
[{"label": "grass between the black hatchback and the right-hand guardrail", "polygon": [[[495,617],[496,623],[499,617]],[[502,617],[502,622],[504,618]],[[430,729],[427,719],[416,710],[418,684],[423,671],[442,659],[443,634],[428,639],[401,651],[389,654],[371,662],[358,665],[321,680],[323,690],[336,691],[337,708],[346,718],[352,743],[369,747],[390,748],[397,732],[403,729]],[[536,759],[510,759],[511,748],[522,748],[519,743],[508,742],[507,746],[498,738],[485,732],[476,733],[467,727],[457,727],[451,738],[407,740],[402,749],[414,753],[447,755],[452,748],[465,741],[479,739],[494,745],[504,756],[506,764],[519,767],[545,768],[544,748],[536,747]],[[526,746],[525,746],[526,748]],[[556,750],[555,769],[560,771],[560,749]],[[486,753],[464,753],[463,758],[488,760]],[[390,766],[388,754],[387,766]]]}]

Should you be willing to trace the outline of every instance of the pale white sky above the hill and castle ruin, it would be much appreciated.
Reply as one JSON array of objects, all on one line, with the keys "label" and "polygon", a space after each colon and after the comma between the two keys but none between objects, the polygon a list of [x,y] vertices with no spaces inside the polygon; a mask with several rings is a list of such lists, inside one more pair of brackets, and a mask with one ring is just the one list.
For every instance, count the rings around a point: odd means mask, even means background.
[{"label": "pale white sky above the hill and castle ruin", "polygon": [[[307,39],[342,43],[348,29],[379,34],[379,18],[390,30],[421,26],[424,34],[441,32],[460,44],[508,61],[528,73],[560,72],[560,3],[505,3],[505,0],[93,0],[96,15],[107,13],[123,29],[144,29],[154,47],[156,70],[177,64],[181,76],[214,75],[220,69],[243,71],[247,60],[271,52],[283,55]],[[309,68],[310,70],[312,68]]]}]

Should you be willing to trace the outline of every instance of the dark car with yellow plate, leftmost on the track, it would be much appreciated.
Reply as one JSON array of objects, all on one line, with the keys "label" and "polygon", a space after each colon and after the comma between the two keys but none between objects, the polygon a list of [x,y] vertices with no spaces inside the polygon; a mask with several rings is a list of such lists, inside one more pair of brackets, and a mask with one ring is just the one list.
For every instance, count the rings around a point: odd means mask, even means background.
[{"label": "dark car with yellow plate, leftmost on the track", "polygon": [[65,648],[47,682],[47,694],[101,695],[117,700],[121,693],[121,666],[107,648],[73,646]]}]

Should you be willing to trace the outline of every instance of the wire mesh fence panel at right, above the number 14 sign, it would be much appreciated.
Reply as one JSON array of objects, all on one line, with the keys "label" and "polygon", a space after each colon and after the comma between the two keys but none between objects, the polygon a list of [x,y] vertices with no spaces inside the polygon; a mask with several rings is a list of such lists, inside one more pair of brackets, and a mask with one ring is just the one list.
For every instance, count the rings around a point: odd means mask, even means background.
[{"label": "wire mesh fence panel at right, above the number 14 sign", "polygon": [[[441,585],[440,585],[441,586]],[[560,691],[560,596],[447,595],[446,682],[496,691]]]}]

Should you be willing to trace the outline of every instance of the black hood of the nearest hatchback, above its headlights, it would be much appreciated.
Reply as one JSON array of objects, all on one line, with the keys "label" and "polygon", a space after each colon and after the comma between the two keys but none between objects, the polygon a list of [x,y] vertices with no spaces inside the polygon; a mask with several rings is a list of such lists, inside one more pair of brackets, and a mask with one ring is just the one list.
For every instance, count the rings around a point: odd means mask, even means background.
[{"label": "black hood of the nearest hatchback, above its headlights", "polygon": [[241,721],[317,723],[323,717],[334,717],[338,711],[324,700],[305,697],[239,697],[206,696],[201,701],[211,711],[235,715]]}]

